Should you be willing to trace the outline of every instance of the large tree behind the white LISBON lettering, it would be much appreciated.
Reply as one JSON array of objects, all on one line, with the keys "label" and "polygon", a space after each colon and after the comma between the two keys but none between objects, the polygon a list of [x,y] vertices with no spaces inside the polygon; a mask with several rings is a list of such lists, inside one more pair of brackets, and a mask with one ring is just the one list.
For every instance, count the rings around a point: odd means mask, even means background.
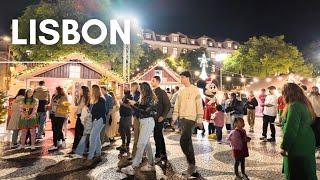
[{"label": "large tree behind the white LISBON lettering", "polygon": [[[39,22],[44,19],[54,19],[59,24],[62,24],[62,19],[74,19],[78,22],[80,33],[82,25],[89,19],[102,20],[107,28],[109,28],[109,20],[111,17],[110,0],[46,0],[41,1],[37,5],[31,5],[26,8],[23,15],[19,17],[19,37],[29,37],[29,22],[30,19],[37,20],[37,27]],[[52,28],[52,27],[50,27]],[[62,34],[62,28],[53,28]],[[132,28],[131,26],[131,29]],[[139,30],[140,28],[137,27]],[[91,27],[89,29],[91,37],[97,37],[100,34],[98,27]],[[46,34],[37,30],[37,36]],[[138,64],[138,59],[143,55],[140,47],[142,39],[137,36],[136,32],[131,33],[131,63],[132,67]],[[76,45],[62,45],[61,39],[56,45],[43,45],[37,42],[37,45],[14,45],[12,46],[14,58],[18,61],[50,61],[59,60],[72,52],[79,52],[85,54],[88,58],[97,62],[111,61],[113,70],[121,72],[122,68],[122,52],[123,44],[119,40],[117,45],[111,45],[109,38],[99,45],[91,45],[86,43],[83,39]],[[27,53],[31,52],[31,53]]]}]

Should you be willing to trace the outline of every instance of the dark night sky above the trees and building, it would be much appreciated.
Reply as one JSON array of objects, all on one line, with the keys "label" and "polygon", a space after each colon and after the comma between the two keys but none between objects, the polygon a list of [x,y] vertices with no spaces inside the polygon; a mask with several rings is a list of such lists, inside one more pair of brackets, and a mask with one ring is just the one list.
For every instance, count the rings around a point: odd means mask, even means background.
[{"label": "dark night sky above the trees and building", "polygon": [[[0,6],[0,33],[9,33],[12,18],[39,0],[5,0]],[[315,0],[117,0],[116,9],[138,17],[143,28],[182,32],[239,42],[251,36],[281,35],[303,48],[320,40],[320,1]]]}]

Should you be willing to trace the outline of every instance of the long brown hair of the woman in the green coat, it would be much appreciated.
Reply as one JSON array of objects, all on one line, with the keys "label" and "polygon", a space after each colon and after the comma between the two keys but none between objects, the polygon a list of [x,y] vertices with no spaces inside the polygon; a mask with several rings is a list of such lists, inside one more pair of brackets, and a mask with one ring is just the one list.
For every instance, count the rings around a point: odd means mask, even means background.
[{"label": "long brown hair of the woman in the green coat", "polygon": [[286,116],[288,112],[288,108],[294,102],[301,102],[307,106],[308,111],[310,112],[312,118],[316,117],[316,113],[312,107],[311,102],[309,101],[308,97],[305,95],[303,90],[300,86],[295,83],[287,83],[283,86],[282,95],[285,99],[287,104],[286,109],[283,112],[283,116]]}]

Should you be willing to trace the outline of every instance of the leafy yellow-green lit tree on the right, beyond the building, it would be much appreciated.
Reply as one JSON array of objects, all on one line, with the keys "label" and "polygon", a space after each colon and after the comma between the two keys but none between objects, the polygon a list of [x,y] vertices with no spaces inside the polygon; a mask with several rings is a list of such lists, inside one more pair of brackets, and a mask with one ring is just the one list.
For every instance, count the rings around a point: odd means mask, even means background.
[{"label": "leafy yellow-green lit tree on the right, beyond the building", "polygon": [[288,73],[312,74],[312,66],[305,63],[296,46],[284,41],[283,35],[250,38],[223,62],[223,69],[261,78]]}]

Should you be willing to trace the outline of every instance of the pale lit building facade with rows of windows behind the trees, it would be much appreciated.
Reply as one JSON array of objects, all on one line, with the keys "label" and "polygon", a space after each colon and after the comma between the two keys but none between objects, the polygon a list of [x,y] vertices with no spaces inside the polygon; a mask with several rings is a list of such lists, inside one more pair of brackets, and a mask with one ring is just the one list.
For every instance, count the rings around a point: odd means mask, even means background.
[{"label": "pale lit building facade with rows of windows behind the trees", "polygon": [[160,49],[163,54],[173,57],[203,47],[206,48],[211,59],[215,59],[217,54],[231,54],[239,47],[238,42],[230,39],[218,41],[205,35],[192,38],[180,32],[163,35],[151,30],[143,30],[143,42],[149,44],[151,48]]}]

